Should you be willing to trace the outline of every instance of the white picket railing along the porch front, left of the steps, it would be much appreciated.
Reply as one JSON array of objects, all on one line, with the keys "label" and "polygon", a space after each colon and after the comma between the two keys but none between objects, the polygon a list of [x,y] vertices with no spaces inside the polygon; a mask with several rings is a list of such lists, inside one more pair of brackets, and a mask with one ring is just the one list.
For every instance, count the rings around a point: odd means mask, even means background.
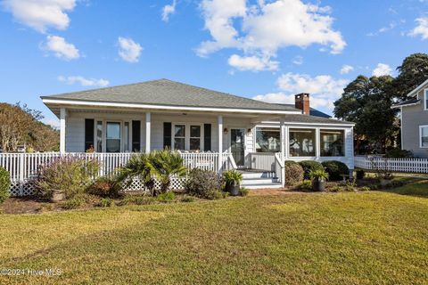
[{"label": "white picket railing along the porch front, left of the steps", "polygon": [[[0,167],[4,167],[11,175],[11,195],[27,196],[34,193],[35,186],[32,183],[37,177],[38,169],[48,165],[61,157],[77,157],[86,160],[96,160],[100,165],[98,175],[110,175],[123,167],[135,153],[0,153]],[[218,155],[222,155],[222,170],[234,167],[234,161],[229,153],[181,153],[185,167],[189,169],[201,168],[204,170],[218,171]],[[173,188],[180,188],[182,181],[174,180]],[[135,183],[134,188],[140,187]]]}]

